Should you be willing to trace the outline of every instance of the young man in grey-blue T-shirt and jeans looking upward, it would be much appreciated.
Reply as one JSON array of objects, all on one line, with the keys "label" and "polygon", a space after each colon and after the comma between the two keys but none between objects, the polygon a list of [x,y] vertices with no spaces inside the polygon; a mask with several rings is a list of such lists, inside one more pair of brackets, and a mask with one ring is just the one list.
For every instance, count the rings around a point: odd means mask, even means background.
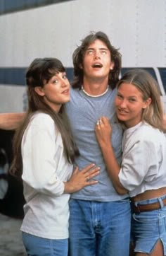
[{"label": "young man in grey-blue T-shirt and jeans looking upward", "polygon": [[66,110],[80,153],[76,165],[81,169],[95,162],[101,170],[97,185],[73,193],[70,199],[70,256],[127,256],[129,197],[115,191],[94,132],[98,118],[106,115],[113,125],[112,143],[120,162],[122,130],[115,122],[114,99],[121,55],[106,34],[91,33],[75,50],[73,64],[75,77]]}]

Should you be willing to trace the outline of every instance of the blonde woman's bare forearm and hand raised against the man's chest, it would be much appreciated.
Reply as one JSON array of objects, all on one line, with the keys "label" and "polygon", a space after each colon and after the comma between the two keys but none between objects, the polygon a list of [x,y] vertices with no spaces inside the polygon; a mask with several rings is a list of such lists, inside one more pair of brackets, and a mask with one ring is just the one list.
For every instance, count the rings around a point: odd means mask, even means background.
[{"label": "blonde woman's bare forearm and hand raised against the man's chest", "polygon": [[120,165],[117,163],[113,151],[113,146],[110,142],[112,129],[110,127],[108,118],[101,117],[101,124],[96,124],[95,132],[98,144],[101,146],[101,151],[103,153],[103,158],[106,163],[108,175],[113,182],[115,190],[119,194],[126,194],[127,190],[125,189],[125,187],[122,186],[118,178],[118,175],[120,173]]}]

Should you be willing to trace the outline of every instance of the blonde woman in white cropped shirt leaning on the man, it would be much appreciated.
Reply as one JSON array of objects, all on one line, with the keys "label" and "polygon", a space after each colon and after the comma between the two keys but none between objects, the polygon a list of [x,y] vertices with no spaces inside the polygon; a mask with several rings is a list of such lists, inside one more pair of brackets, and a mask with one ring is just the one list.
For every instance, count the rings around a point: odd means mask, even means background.
[{"label": "blonde woman in white cropped shirt leaning on the man", "polygon": [[135,255],[166,255],[166,137],[155,79],[144,70],[128,71],[117,83],[115,109],[125,128],[121,165],[109,143],[107,117],[98,120],[96,137],[115,190],[132,200]]}]

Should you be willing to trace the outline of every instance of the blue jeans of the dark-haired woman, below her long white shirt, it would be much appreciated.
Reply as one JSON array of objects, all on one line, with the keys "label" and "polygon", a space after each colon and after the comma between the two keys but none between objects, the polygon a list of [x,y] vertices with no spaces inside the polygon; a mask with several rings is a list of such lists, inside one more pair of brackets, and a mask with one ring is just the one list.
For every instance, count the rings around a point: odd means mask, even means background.
[{"label": "blue jeans of the dark-haired woman, below her long white shirt", "polygon": [[28,256],[68,256],[68,239],[47,239],[22,232]]}]

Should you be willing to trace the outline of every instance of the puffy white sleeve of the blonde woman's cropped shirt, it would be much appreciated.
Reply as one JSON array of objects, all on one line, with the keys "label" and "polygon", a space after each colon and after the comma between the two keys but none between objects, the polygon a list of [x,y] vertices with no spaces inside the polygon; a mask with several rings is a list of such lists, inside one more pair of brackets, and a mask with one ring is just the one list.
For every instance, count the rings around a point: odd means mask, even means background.
[{"label": "puffy white sleeve of the blonde woman's cropped shirt", "polygon": [[152,141],[137,141],[124,153],[119,173],[120,183],[129,192],[155,179],[158,173],[158,149]]}]

